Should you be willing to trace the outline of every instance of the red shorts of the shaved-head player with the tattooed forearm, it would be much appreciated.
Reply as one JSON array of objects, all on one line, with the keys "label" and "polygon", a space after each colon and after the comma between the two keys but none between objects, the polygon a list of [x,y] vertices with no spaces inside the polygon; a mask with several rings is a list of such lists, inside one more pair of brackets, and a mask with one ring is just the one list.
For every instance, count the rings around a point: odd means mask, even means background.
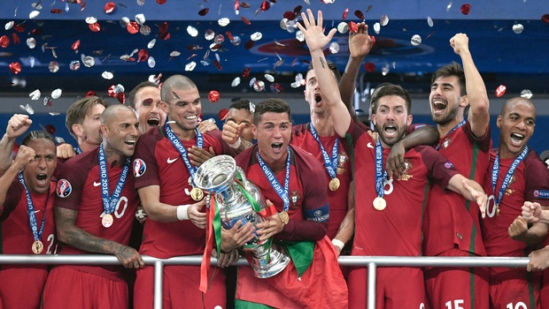
[{"label": "red shorts of the shaved-head player with the tattooed forearm", "polygon": [[51,269],[43,309],[128,308],[128,284],[67,266]]}]

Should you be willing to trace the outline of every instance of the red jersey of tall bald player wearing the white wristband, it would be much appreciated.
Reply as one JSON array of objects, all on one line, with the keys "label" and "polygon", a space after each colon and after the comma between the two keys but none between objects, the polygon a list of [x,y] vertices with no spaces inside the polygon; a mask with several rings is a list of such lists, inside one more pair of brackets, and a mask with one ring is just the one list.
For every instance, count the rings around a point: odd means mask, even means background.
[{"label": "red jersey of tall bald player wearing the white wristband", "polygon": [[[144,133],[135,148],[135,189],[148,185],[159,185],[162,203],[177,207],[194,204],[190,198],[192,185],[189,170],[182,155],[166,138],[163,127]],[[215,154],[228,155],[230,147],[219,132],[206,133],[204,148],[213,147]],[[197,140],[181,140],[183,147],[196,146]],[[147,219],[143,229],[141,254],[160,259],[174,256],[202,254],[205,250],[205,230],[199,229],[190,220],[181,222],[156,222]]]}]

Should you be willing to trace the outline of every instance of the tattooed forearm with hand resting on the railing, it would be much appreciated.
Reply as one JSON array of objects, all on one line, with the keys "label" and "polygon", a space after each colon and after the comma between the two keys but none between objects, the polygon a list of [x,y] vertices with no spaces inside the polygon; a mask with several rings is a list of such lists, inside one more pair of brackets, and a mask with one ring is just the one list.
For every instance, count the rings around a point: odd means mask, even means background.
[{"label": "tattooed forearm with hand resting on the railing", "polygon": [[55,207],[55,223],[59,241],[89,252],[113,254],[124,264],[125,268],[143,268],[145,266],[141,254],[134,248],[81,230],[74,224],[77,215],[78,212],[75,210]]}]

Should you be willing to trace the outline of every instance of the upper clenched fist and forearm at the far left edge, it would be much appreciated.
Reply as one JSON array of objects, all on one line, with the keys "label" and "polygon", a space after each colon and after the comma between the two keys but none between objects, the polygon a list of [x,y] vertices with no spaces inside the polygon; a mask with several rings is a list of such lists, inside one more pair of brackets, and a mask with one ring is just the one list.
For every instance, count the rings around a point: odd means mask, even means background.
[{"label": "upper clenched fist and forearm at the far left edge", "polygon": [[15,114],[8,121],[5,134],[0,140],[0,173],[4,173],[12,165],[13,145],[15,139],[27,132],[33,123],[27,115]]}]

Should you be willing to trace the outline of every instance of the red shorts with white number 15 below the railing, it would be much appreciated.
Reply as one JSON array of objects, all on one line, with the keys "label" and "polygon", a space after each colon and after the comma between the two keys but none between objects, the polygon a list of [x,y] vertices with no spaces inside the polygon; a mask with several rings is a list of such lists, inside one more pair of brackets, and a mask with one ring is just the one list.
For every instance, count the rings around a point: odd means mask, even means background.
[{"label": "red shorts with white number 15 below the railing", "polygon": [[[437,256],[469,256],[469,253],[451,249]],[[425,268],[424,273],[431,308],[489,307],[487,268]]]}]

